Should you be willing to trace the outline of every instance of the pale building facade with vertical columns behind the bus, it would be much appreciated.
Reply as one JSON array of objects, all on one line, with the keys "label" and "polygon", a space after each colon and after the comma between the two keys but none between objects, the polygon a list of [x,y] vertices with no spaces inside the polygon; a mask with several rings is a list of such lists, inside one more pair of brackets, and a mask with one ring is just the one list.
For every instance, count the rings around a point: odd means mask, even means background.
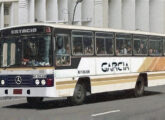
[{"label": "pale building facade with vertical columns behind the bus", "polygon": [[[0,28],[25,23],[71,24],[77,0],[0,0]],[[75,25],[165,33],[165,0],[83,0]]]}]

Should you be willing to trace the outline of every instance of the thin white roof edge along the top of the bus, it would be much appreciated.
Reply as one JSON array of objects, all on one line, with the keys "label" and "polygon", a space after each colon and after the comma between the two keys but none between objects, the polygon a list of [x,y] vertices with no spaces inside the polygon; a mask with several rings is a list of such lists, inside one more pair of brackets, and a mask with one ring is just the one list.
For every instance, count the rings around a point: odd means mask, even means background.
[{"label": "thin white roof edge along the top of the bus", "polygon": [[87,27],[80,25],[66,25],[66,24],[53,24],[53,23],[33,23],[33,24],[23,24],[17,26],[11,26],[2,28],[1,30],[6,30],[10,28],[19,28],[26,26],[48,26],[53,28],[61,28],[61,29],[74,29],[74,30],[91,30],[91,31],[100,31],[100,32],[117,32],[117,33],[129,33],[129,34],[140,34],[140,35],[155,35],[155,36],[164,36],[165,34],[160,33],[152,33],[152,32],[143,32],[143,31],[128,31],[128,30],[120,30],[120,29],[111,29],[111,28],[98,28],[98,27]]}]

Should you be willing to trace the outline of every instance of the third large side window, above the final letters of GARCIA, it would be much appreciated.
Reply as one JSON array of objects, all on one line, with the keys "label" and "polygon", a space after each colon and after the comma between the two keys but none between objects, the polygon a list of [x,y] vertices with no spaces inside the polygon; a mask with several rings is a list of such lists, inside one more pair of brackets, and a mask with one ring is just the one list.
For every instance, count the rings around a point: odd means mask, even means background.
[{"label": "third large side window, above the final letters of GARCIA", "polygon": [[116,55],[131,55],[132,41],[129,34],[116,35]]}]

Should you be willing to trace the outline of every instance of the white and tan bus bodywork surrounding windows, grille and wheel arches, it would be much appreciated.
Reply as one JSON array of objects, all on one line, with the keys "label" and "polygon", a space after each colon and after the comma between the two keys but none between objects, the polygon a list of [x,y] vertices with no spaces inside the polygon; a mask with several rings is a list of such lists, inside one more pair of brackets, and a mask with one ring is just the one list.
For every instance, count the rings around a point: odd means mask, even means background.
[{"label": "white and tan bus bodywork surrounding windows, grille and wheel arches", "polygon": [[[42,29],[40,29],[40,27]],[[39,28],[39,29],[38,29]],[[46,28],[46,29],[45,29]],[[51,31],[52,30],[52,31]],[[73,96],[74,90],[77,82],[81,78],[89,78],[91,83],[91,93],[100,93],[100,92],[108,92],[108,91],[116,91],[116,90],[125,90],[135,88],[138,77],[141,73],[145,73],[148,79],[148,86],[157,86],[157,85],[165,85],[165,57],[164,53],[159,56],[150,56],[147,52],[145,55],[134,55],[134,51],[131,54],[124,56],[117,55],[115,50],[117,48],[116,44],[116,34],[123,35],[129,34],[129,39],[133,45],[133,35],[145,35],[147,36],[147,46],[149,46],[150,36],[159,36],[162,37],[163,40],[165,35],[163,34],[154,34],[154,33],[144,33],[144,32],[133,32],[133,31],[120,31],[120,30],[111,30],[111,29],[100,29],[100,28],[88,28],[88,27],[80,27],[80,26],[65,26],[65,25],[28,25],[28,26],[20,26],[13,28],[6,28],[2,30],[1,37],[6,37],[11,35],[11,37],[17,35],[17,37],[24,37],[24,40],[27,36],[32,35],[41,35],[49,34],[50,38],[53,38],[54,44],[53,50],[56,49],[56,41],[57,35],[63,36],[63,39],[68,38],[70,42],[70,46],[72,47],[72,31],[78,31],[76,34],[79,34],[79,37],[83,35],[87,35],[84,31],[89,31],[92,33],[93,40],[93,54],[91,55],[74,55],[73,50],[70,53],[71,62],[66,66],[58,66],[56,62],[57,56],[55,56],[56,51],[52,51],[52,60],[53,64],[51,68],[49,67],[34,67],[30,66],[27,68],[1,68],[0,69],[0,78],[8,79],[8,77],[12,76],[12,82],[15,81],[14,77],[24,77],[24,76],[35,76],[35,75],[52,75],[54,79],[54,84],[52,87],[31,87],[26,86],[23,87],[21,85],[15,85],[14,87],[0,87],[0,96],[26,96],[26,97],[63,97],[63,96]],[[54,32],[55,31],[55,32]],[[113,34],[112,40],[114,41],[113,45],[113,54],[107,55],[97,55],[96,53],[96,32],[101,33],[111,33]],[[81,35],[81,36],[80,36]],[[26,37],[25,37],[26,36]],[[34,37],[34,36],[33,36]],[[38,37],[38,36],[37,36]],[[35,37],[35,38],[37,38]],[[89,34],[88,34],[89,37]],[[42,38],[42,37],[40,37]],[[106,38],[106,37],[105,37]],[[120,37],[118,37],[120,38]],[[123,38],[123,36],[121,36]],[[44,40],[48,38],[45,37]],[[124,38],[125,39],[125,38]],[[127,39],[127,38],[126,38]],[[18,40],[18,39],[17,39]],[[26,40],[28,40],[26,38]],[[153,39],[151,39],[153,40]],[[6,40],[7,41],[7,40]],[[94,43],[95,41],[95,43]],[[26,43],[26,42],[25,42]],[[92,42],[91,42],[92,43]],[[50,44],[45,42],[45,44]],[[11,45],[11,48],[15,46]],[[133,48],[133,46],[132,46]],[[4,47],[4,50],[7,47]],[[73,48],[72,48],[73,49]],[[95,50],[94,50],[95,49]],[[149,48],[147,48],[149,49]],[[47,49],[45,51],[48,52]],[[163,51],[161,51],[163,52]],[[7,58],[7,54],[4,54]],[[13,51],[11,52],[11,58],[13,56]],[[5,63],[5,59],[3,59],[3,63]],[[26,62],[26,61],[24,61]],[[38,63],[39,64],[39,63]],[[14,76],[14,77],[13,77]],[[32,80],[32,78],[31,78]],[[15,83],[14,83],[15,84]],[[22,90],[22,94],[13,94],[14,90]],[[5,94],[5,91],[8,90],[8,94]],[[28,94],[28,90],[30,90],[30,94]]]}]

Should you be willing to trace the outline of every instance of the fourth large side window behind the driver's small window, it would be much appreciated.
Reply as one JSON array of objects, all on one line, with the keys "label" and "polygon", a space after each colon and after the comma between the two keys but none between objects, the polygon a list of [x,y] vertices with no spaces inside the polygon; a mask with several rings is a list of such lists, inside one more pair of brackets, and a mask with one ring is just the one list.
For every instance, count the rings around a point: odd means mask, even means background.
[{"label": "fourth large side window behind the driver's small window", "polygon": [[147,36],[134,35],[134,54],[147,55]]}]

